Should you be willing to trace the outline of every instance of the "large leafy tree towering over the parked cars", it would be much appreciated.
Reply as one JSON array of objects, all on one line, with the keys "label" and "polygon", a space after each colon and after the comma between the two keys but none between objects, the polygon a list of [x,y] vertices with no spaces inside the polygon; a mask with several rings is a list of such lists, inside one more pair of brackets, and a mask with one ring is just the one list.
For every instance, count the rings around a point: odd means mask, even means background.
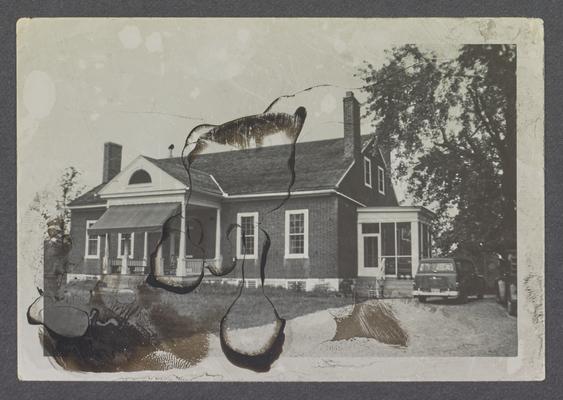
[{"label": "large leafy tree towering over the parked cars", "polygon": [[516,48],[466,45],[452,57],[408,45],[359,74],[396,177],[439,215],[443,252],[516,245]]}]

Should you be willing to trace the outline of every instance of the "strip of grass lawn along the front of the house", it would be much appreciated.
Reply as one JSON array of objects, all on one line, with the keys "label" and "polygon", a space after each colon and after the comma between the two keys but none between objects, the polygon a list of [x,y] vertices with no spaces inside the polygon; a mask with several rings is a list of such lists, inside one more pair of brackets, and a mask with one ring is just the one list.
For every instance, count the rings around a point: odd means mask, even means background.
[{"label": "strip of grass lawn along the front of the house", "polygon": [[[90,285],[91,286],[91,285]],[[90,299],[88,285],[74,284],[73,298],[78,299],[75,306],[86,312],[92,307],[103,307],[116,315],[136,315],[145,310],[150,320],[159,320],[159,325],[168,326],[171,331],[183,330],[185,335],[197,333],[217,333],[219,324],[239,293],[239,286],[202,283],[188,294],[175,294],[164,289],[156,289],[146,284],[129,288],[103,288],[95,290],[96,301]],[[127,296],[124,293],[127,292]],[[353,304],[352,297],[344,297],[331,292],[298,292],[282,288],[266,287],[268,295],[281,318],[293,319],[316,311]],[[124,298],[129,301],[124,302]],[[100,303],[101,302],[101,303]],[[262,293],[262,289],[244,288],[242,295],[229,314],[229,328],[250,328],[266,325],[275,320],[272,306]],[[154,322],[154,321],[153,321]],[[152,324],[147,321],[147,323]],[[175,333],[174,335],[177,335]]]}]

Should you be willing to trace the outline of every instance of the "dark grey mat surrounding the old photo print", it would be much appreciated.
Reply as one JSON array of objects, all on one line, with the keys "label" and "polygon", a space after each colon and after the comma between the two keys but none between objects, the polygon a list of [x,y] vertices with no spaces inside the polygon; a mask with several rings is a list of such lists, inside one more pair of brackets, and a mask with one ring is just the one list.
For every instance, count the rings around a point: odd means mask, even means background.
[{"label": "dark grey mat surrounding the old photo print", "polygon": [[[563,393],[563,2],[0,1],[0,399],[556,399]],[[535,17],[545,27],[546,380],[505,383],[19,382],[16,359],[16,41],[19,17]],[[431,365],[428,368],[432,368]],[[260,379],[259,376],[257,376]]]}]

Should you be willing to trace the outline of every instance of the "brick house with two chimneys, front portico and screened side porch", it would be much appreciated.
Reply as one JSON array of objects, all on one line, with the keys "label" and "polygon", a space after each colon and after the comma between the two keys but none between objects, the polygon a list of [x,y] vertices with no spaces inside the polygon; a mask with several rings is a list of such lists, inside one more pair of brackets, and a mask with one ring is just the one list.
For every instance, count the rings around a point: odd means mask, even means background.
[{"label": "brick house with two chimneys, front portico and screened side porch", "polygon": [[[70,205],[69,279],[142,277],[171,216],[171,233],[156,254],[157,274],[198,274],[203,259],[222,265],[245,252],[248,284],[255,285],[260,222],[272,241],[267,284],[338,290],[344,281],[372,277],[381,260],[389,278],[412,276],[418,260],[430,255],[432,214],[398,205],[389,157],[373,135],[361,135],[352,92],[343,111],[343,138],[297,144],[291,198],[273,212],[287,194],[290,145],[198,156],[188,199],[181,158],[138,156],[122,170],[122,147],[106,143],[103,183]],[[233,223],[245,235],[237,229],[229,241],[225,233]]]}]

